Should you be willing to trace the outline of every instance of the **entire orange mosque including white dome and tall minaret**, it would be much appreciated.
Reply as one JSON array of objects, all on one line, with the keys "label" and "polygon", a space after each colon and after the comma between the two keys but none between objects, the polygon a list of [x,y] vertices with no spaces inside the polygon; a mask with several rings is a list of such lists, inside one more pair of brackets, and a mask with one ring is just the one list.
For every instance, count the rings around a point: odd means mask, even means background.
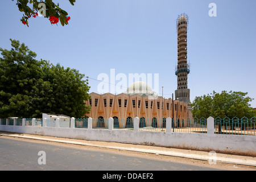
[{"label": "entire orange mosque including white dome and tall minaret", "polygon": [[[166,118],[186,119],[191,118],[190,90],[188,89],[189,65],[187,64],[187,25],[188,17],[185,14],[177,19],[177,90],[175,100],[163,98],[155,93],[145,82],[134,82],[121,94],[90,93],[90,100],[85,101],[91,106],[86,116],[91,118],[114,118],[121,123],[122,119],[132,121],[138,117],[140,122],[147,119],[146,126],[164,127]],[[95,125],[95,124],[93,124]],[[141,125],[140,125],[141,126]],[[95,126],[93,126],[95,127]],[[124,126],[121,126],[124,127]]]}]

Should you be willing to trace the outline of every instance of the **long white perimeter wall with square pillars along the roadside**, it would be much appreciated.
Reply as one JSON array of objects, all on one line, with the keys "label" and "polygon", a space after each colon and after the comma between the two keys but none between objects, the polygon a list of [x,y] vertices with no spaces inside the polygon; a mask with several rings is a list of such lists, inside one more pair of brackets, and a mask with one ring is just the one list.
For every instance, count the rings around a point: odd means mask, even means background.
[{"label": "long white perimeter wall with square pillars along the roadside", "polygon": [[[147,144],[191,150],[216,151],[226,154],[256,156],[256,136],[214,134],[214,119],[207,119],[207,134],[172,133],[171,118],[167,118],[166,132],[139,131],[139,118],[134,118],[134,130],[113,130],[113,118],[109,119],[109,129],[92,129],[92,119],[88,119],[88,129],[75,128],[75,118],[71,127],[10,126],[0,125],[0,131],[26,133],[51,137],[63,137],[105,142]],[[14,122],[15,123],[15,122]],[[43,121],[43,123],[46,123]]]}]

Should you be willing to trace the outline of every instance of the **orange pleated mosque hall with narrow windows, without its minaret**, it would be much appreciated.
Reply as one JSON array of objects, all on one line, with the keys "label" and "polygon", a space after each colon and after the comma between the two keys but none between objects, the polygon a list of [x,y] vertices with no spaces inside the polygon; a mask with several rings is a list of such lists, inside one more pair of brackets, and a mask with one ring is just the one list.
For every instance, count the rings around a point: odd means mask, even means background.
[{"label": "orange pleated mosque hall with narrow windows, without its minaret", "polygon": [[[162,126],[162,122],[166,121],[168,117],[177,119],[189,117],[188,104],[179,100],[172,102],[171,98],[153,96],[152,90],[147,84],[143,82],[140,84],[141,86],[138,88],[135,88],[135,85],[129,87],[133,87],[131,89],[133,93],[129,93],[129,89],[126,93],[118,95],[90,93],[91,98],[85,103],[91,106],[91,110],[86,116],[94,119],[112,117],[118,118],[118,121],[138,117],[150,121],[147,123],[148,126],[151,126],[151,121],[154,119],[158,122],[157,126]],[[148,89],[143,89],[143,86]]]}]

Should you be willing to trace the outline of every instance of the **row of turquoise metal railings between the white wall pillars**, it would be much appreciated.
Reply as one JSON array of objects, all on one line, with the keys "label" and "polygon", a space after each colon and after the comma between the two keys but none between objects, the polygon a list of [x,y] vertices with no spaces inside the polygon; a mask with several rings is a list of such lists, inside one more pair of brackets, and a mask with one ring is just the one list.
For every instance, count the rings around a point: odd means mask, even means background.
[{"label": "row of turquoise metal railings between the white wall pillars", "polygon": [[[22,126],[22,118],[3,118],[1,125]],[[43,119],[36,118],[35,126],[42,127]],[[15,123],[14,123],[15,122]],[[256,117],[253,118],[214,118],[215,134],[255,135]],[[25,126],[32,126],[32,118],[24,119]],[[56,127],[56,119],[46,119],[44,126]],[[93,118],[92,129],[108,129],[109,118]],[[59,127],[71,127],[71,119],[59,119]],[[172,118],[172,132],[207,133],[205,118]],[[75,118],[75,128],[88,129],[88,118]],[[113,117],[114,130],[134,130],[134,118]],[[166,131],[166,118],[139,118],[139,131]]]}]

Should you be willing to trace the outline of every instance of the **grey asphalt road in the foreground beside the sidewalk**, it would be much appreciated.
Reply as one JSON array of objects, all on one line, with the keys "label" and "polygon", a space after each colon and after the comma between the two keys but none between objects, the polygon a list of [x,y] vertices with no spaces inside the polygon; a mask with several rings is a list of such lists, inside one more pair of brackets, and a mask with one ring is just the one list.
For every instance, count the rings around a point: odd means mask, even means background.
[{"label": "grey asphalt road in the foreground beside the sidewalk", "polygon": [[[40,152],[43,151],[43,152]],[[119,154],[120,153],[120,154]],[[216,170],[52,142],[0,137],[1,171],[183,171]],[[45,164],[44,164],[45,163]]]}]

